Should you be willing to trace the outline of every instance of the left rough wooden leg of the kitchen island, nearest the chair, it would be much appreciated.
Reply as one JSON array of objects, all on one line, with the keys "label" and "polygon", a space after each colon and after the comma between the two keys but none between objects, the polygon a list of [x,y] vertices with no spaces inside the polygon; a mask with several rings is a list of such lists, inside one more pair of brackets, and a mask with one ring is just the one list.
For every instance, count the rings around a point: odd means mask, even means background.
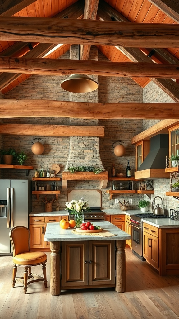
[{"label": "left rough wooden leg of the kitchen island, nearest the chair", "polygon": [[50,293],[52,296],[60,295],[60,241],[50,242]]}]

